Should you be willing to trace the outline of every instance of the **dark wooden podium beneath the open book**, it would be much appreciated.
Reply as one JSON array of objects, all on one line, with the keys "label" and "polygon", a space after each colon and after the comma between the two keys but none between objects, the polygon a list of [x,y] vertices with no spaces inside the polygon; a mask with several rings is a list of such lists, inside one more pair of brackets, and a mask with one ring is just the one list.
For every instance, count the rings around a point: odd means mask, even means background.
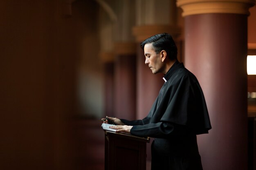
[{"label": "dark wooden podium beneath the open book", "polygon": [[146,170],[146,143],[150,138],[104,132],[105,170]]}]

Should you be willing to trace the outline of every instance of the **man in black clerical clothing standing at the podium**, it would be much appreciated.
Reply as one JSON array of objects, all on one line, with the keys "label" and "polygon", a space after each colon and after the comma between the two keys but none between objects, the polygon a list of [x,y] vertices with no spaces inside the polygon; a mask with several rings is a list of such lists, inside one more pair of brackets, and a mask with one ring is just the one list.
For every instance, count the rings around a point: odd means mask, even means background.
[{"label": "man in black clerical clothing standing at the podium", "polygon": [[196,135],[208,133],[211,124],[198,80],[177,61],[177,47],[171,35],[154,35],[142,42],[141,48],[145,64],[154,74],[164,73],[165,83],[144,119],[107,117],[118,124],[111,128],[155,138],[151,170],[202,170]]}]

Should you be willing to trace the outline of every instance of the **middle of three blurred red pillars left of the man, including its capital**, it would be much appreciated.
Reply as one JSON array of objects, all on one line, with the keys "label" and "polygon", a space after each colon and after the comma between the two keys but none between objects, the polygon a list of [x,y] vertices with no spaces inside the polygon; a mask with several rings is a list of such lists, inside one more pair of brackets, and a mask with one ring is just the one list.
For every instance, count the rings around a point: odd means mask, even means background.
[{"label": "middle of three blurred red pillars left of the man, including its capital", "polygon": [[134,43],[115,44],[115,117],[136,118],[136,56]]}]

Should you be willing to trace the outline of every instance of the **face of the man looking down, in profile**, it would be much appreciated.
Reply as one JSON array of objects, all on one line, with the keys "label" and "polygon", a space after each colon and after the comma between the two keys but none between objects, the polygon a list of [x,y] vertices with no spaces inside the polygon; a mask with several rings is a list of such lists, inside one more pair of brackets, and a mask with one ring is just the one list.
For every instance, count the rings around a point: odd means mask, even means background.
[{"label": "face of the man looking down, in profile", "polygon": [[144,46],[144,55],[146,57],[145,64],[148,64],[148,67],[152,71],[152,73],[162,73],[164,68],[164,64],[162,62],[162,57],[159,54],[155,53],[154,47],[152,43],[145,44]]}]

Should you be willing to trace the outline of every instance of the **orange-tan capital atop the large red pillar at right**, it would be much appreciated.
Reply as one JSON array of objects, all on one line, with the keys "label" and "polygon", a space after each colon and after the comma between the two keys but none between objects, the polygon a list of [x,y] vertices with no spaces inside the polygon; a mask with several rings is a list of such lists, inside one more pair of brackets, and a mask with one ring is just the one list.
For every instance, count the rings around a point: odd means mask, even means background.
[{"label": "orange-tan capital atop the large red pillar at right", "polygon": [[176,4],[183,9],[183,17],[203,13],[249,15],[249,8],[255,5],[255,0],[177,0]]}]

